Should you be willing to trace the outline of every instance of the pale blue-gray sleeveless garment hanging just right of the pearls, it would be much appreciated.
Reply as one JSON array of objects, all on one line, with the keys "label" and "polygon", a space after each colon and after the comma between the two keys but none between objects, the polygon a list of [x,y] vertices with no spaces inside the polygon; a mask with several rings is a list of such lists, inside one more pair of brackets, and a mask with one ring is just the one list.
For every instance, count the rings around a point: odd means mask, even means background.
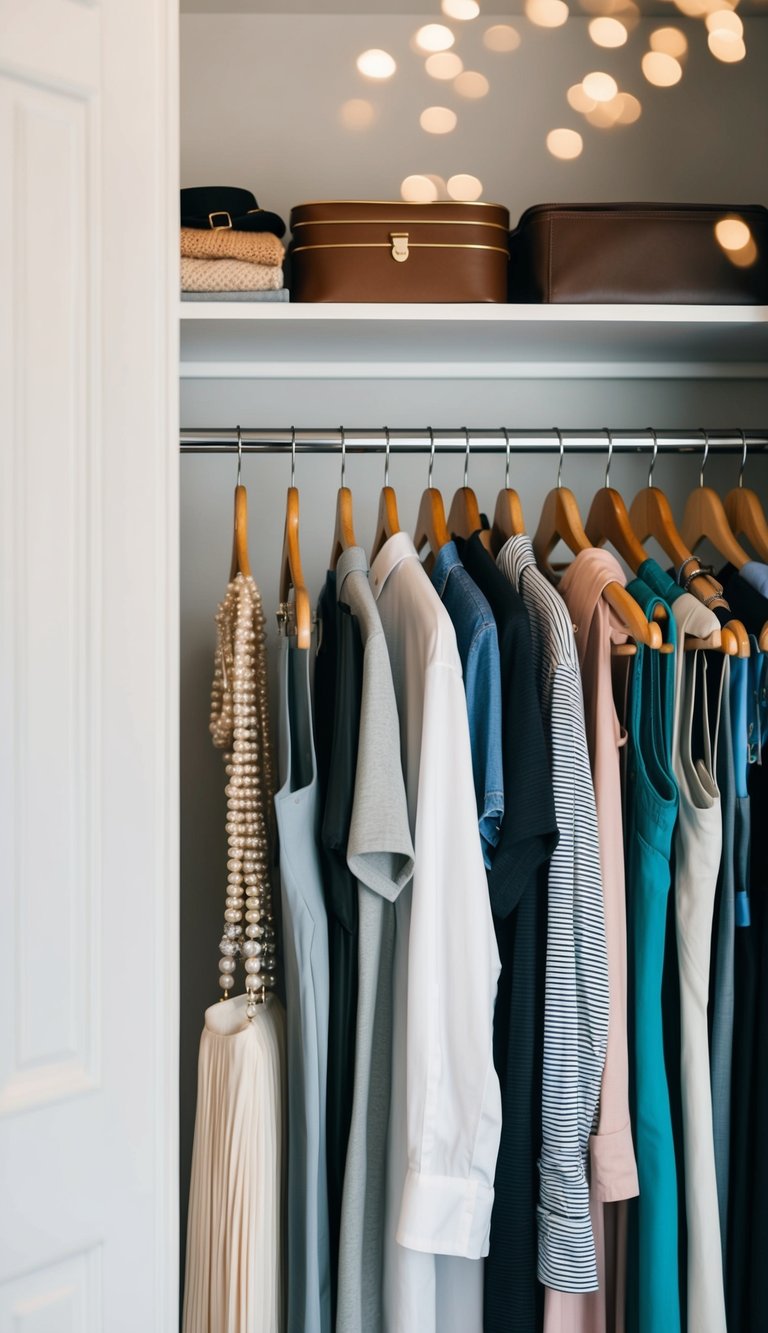
[{"label": "pale blue-gray sleeveless garment hanging just right of the pearls", "polygon": [[317,850],[309,652],[280,643],[280,837],[288,1057],[287,1333],[331,1333],[328,926]]}]

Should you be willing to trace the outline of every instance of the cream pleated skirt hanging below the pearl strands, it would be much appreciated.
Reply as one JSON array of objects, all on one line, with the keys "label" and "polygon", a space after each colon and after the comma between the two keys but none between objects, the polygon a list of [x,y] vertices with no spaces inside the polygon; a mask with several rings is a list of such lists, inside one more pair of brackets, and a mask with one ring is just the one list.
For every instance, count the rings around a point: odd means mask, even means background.
[{"label": "cream pleated skirt hanging below the pearl strands", "polygon": [[187,1228],[184,1333],[283,1333],[285,1014],[205,1010]]}]

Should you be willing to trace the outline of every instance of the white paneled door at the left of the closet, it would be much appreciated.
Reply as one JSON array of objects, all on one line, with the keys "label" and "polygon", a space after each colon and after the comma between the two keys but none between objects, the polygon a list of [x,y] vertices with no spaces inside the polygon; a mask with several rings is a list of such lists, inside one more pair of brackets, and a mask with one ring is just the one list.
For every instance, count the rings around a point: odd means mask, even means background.
[{"label": "white paneled door at the left of the closet", "polygon": [[177,1317],[176,21],[0,0],[0,1333]]}]

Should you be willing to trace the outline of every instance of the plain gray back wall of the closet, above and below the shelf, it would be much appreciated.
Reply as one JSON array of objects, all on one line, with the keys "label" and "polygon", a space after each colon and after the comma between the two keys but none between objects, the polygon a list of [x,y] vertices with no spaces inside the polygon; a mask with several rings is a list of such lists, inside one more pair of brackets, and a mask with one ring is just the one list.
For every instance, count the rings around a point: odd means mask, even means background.
[{"label": "plain gray back wall of the closet, above and below the shelf", "polygon": [[[436,7],[435,7],[436,8]],[[428,17],[435,19],[432,12]],[[488,19],[488,21],[491,21]],[[255,189],[259,201],[288,212],[313,197],[396,196],[411,172],[469,171],[513,215],[545,199],[712,199],[765,200],[764,145],[768,99],[768,20],[748,21],[749,55],[725,67],[709,57],[700,24],[683,21],[691,56],[683,84],[652,89],[639,75],[645,49],[636,31],[624,52],[600,52],[585,37],[581,19],[564,29],[541,32],[513,20],[521,48],[493,57],[499,75],[481,104],[456,105],[459,129],[445,140],[423,135],[417,112],[449,103],[428,80],[421,61],[408,53],[417,25],[401,16],[184,16],[183,151],[184,184],[219,181]],[[472,29],[473,25],[469,25]],[[647,27],[647,25],[645,25]],[[355,56],[369,45],[388,47],[401,61],[396,83],[363,85]],[[468,67],[491,68],[476,59],[477,32],[461,36]],[[481,49],[481,48],[480,48]],[[619,71],[621,85],[641,97],[641,120],[621,131],[585,128],[585,151],[572,164],[555,161],[543,147],[545,132],[577,125],[564,93],[591,68]],[[504,73],[501,75],[501,71]],[[348,136],[337,123],[341,101],[371,96],[380,107],[375,128]],[[413,125],[416,124],[416,129]],[[765,427],[768,392],[749,381],[184,381],[183,425],[525,425],[667,428]],[[644,484],[645,460],[619,457],[612,483],[629,499]],[[708,477],[727,487],[736,460],[715,459]],[[248,457],[244,464],[251,505],[251,560],[261,585],[275,644],[276,580],[283,504],[289,463]],[[471,481],[483,507],[492,509],[503,484],[503,460],[477,457]],[[556,475],[553,457],[513,460],[531,529]],[[373,535],[381,460],[351,457],[348,484],[355,496],[359,540]],[[748,476],[768,488],[768,464],[756,460]],[[425,484],[427,460],[395,457],[391,481],[400,520],[412,529]],[[697,477],[691,457],[665,459],[657,484],[679,512]],[[460,484],[460,459],[437,459],[435,483],[449,499]],[[587,512],[603,483],[600,459],[567,459],[564,480]],[[208,734],[213,615],[224,592],[231,551],[235,464],[229,459],[185,457],[181,463],[181,1157],[185,1198],[195,1106],[196,1049],[207,1004],[217,997],[216,960],[225,882],[223,768]],[[324,576],[333,529],[337,461],[300,456],[301,549],[312,592]]]}]

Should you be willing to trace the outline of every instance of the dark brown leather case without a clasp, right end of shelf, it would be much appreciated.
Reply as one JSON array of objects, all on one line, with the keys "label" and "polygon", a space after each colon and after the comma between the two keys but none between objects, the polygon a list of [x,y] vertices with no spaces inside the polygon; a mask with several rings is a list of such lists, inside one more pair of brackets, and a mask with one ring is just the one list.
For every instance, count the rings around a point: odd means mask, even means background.
[{"label": "dark brown leather case without a clasp, right end of shelf", "polygon": [[[715,227],[744,221],[728,252]],[[716,204],[539,204],[509,237],[509,300],[768,303],[768,209]]]}]

